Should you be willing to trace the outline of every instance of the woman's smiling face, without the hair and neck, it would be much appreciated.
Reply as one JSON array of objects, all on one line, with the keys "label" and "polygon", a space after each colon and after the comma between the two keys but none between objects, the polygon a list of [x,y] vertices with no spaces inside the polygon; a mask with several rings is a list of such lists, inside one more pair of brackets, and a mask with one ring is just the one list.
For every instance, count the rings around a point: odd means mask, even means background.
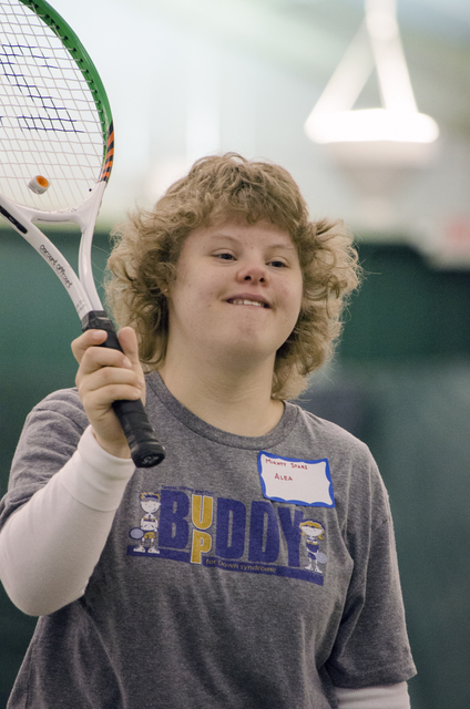
[{"label": "woman's smiling face, without the hair and neck", "polygon": [[297,249],[265,220],[197,228],[183,245],[168,296],[170,352],[175,345],[241,362],[270,358],[274,366],[300,311]]}]

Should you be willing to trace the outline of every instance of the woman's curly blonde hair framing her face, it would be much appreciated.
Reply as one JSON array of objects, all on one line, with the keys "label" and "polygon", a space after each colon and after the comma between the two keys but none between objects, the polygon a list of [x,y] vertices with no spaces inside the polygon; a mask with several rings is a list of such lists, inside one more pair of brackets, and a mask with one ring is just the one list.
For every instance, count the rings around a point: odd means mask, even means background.
[{"label": "woman's curly blonde hair framing her face", "polygon": [[333,353],[360,266],[344,223],[310,222],[297,184],[278,165],[236,153],[203,157],[152,210],[132,213],[112,234],[108,305],[120,327],[134,327],[146,370],[159,369],[168,336],[163,290],[176,277],[183,244],[194,229],[227,218],[266,219],[285,229],[297,247],[303,304],[293,332],[277,350],[272,388],[274,399],[296,398],[307,376]]}]

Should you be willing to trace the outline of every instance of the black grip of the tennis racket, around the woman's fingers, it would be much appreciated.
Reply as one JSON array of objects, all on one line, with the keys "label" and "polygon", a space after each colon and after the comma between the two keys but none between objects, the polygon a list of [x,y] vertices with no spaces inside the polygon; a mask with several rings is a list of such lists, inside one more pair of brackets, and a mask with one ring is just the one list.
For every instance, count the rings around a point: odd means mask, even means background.
[{"label": "black grip of the tennis racket, around the woman's fingers", "polygon": [[[82,318],[82,331],[85,330],[105,330],[108,339],[101,347],[122,351],[114,326],[104,310],[91,310]],[[114,401],[113,409],[127,439],[135,465],[159,465],[165,458],[165,449],[156,439],[142,401]]]}]

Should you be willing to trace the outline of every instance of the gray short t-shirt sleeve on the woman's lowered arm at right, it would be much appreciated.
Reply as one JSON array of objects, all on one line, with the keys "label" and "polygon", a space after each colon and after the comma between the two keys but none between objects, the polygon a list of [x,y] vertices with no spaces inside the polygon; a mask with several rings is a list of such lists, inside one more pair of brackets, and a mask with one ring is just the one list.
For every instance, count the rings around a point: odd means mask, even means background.
[{"label": "gray short t-shirt sleeve on the woman's lowered arm at right", "polygon": [[370,458],[368,483],[350,492],[347,545],[354,561],[327,671],[336,687],[395,685],[416,675],[401,596],[388,494]]}]

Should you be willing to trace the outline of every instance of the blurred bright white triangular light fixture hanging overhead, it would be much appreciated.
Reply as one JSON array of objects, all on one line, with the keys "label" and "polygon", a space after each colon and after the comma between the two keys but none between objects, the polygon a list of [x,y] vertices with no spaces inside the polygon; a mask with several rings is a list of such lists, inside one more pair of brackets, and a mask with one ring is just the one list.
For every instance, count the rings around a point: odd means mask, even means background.
[{"label": "blurred bright white triangular light fixture hanging overhead", "polygon": [[[439,127],[418,112],[400,41],[395,0],[365,0],[366,18],[307,119],[308,137],[347,166],[419,166],[433,155]],[[374,68],[382,107],[352,110]]]}]

